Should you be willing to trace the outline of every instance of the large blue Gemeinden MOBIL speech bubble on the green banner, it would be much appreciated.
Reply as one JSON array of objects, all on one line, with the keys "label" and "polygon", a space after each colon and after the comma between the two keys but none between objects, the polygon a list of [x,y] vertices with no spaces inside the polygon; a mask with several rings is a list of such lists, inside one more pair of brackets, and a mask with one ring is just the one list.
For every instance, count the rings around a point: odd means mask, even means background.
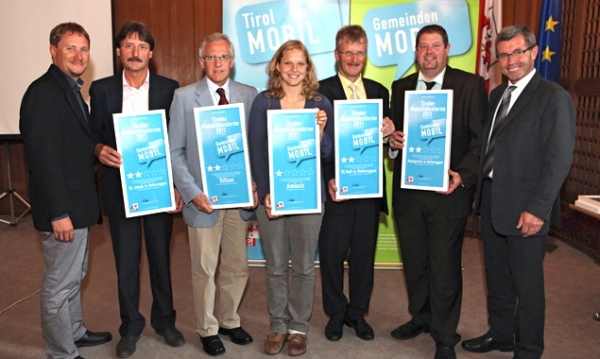
[{"label": "large blue Gemeinden MOBIL speech bubble on the green banner", "polygon": [[464,54],[472,46],[466,0],[417,1],[368,11],[363,27],[369,40],[369,61],[375,66],[397,65],[395,80],[415,62],[416,35],[431,24],[441,25],[451,44],[449,56]]}]

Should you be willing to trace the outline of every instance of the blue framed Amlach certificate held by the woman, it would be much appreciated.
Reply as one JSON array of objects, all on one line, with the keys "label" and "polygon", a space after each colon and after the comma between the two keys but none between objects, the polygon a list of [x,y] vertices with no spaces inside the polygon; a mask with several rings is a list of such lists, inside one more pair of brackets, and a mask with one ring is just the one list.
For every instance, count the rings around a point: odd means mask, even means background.
[{"label": "blue framed Amlach certificate held by the woman", "polygon": [[268,110],[272,214],[321,213],[317,109]]}]

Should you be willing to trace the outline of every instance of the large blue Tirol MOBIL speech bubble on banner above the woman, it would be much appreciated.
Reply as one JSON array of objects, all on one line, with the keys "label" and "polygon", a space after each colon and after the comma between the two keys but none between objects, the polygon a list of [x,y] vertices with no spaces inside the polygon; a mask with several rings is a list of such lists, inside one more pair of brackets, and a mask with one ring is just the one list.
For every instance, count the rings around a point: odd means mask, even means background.
[{"label": "large blue Tirol MOBIL speech bubble on banner above the woman", "polygon": [[335,49],[342,27],[337,1],[271,1],[248,5],[235,14],[239,53],[249,64],[268,62],[287,40],[300,40],[310,54]]}]

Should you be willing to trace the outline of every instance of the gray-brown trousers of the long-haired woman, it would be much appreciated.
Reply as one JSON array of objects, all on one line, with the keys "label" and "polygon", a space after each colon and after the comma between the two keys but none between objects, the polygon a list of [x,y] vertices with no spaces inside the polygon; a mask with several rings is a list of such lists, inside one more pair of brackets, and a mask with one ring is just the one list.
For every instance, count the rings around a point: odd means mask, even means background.
[{"label": "gray-brown trousers of the long-haired woman", "polygon": [[[256,210],[266,259],[267,305],[272,332],[308,332],[315,289],[315,253],[323,214],[283,216],[270,220]],[[292,279],[288,280],[289,260]]]}]

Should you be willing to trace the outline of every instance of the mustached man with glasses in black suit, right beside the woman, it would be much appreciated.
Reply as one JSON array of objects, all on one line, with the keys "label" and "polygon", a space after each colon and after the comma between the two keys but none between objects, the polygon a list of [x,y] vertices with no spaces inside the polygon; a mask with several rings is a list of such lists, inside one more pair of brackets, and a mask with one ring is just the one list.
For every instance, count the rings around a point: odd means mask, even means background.
[{"label": "mustached man with glasses in black suit, right beside the woman", "polygon": [[[335,59],[338,74],[319,82],[319,92],[329,101],[346,99],[383,100],[383,136],[394,131],[389,115],[389,92],[378,82],[363,78],[361,71],[367,55],[367,35],[358,25],[345,26],[336,35]],[[326,127],[334,138],[334,121]],[[342,338],[344,322],[364,340],[374,338],[365,321],[373,290],[375,246],[379,212],[387,213],[384,198],[339,200],[336,196],[335,163],[323,163],[327,201],[319,233],[319,259],[323,287],[323,307],[330,319],[325,337]],[[382,174],[383,175],[383,174]],[[384,186],[385,187],[385,186]],[[348,261],[350,300],[344,295],[344,261]]]}]

